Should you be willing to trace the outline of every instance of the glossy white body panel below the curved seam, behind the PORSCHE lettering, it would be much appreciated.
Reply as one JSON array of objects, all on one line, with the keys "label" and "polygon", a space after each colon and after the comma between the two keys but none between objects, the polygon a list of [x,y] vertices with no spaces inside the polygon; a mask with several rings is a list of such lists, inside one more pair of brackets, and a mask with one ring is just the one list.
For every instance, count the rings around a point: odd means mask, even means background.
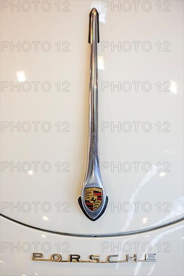
[{"label": "glossy white body panel below the curved seam, behind the PORSCHE lettering", "polygon": [[[4,243],[1,254],[2,275],[183,275],[183,224],[176,223],[160,230],[144,234],[114,238],[77,238],[51,234],[34,230],[2,218],[2,237]],[[13,248],[19,242],[18,248]],[[124,259],[126,254],[137,253],[140,258],[146,253],[156,253],[156,262],[149,263],[54,263],[32,260],[32,253],[47,250],[45,258],[60,253],[63,260],[69,254],[79,254],[82,260],[88,260],[90,254],[100,254],[101,260],[111,254],[119,254]],[[12,244],[12,245],[11,245]],[[60,245],[60,248],[58,247]],[[113,248],[114,246],[114,248]],[[119,247],[115,247],[119,246]],[[131,249],[129,249],[129,246]],[[7,248],[6,248],[7,247]],[[50,247],[50,248],[49,248]],[[125,252],[122,250],[128,250]],[[178,251],[178,248],[181,250]],[[27,252],[25,252],[27,251]],[[160,251],[160,252],[159,252]]]}]

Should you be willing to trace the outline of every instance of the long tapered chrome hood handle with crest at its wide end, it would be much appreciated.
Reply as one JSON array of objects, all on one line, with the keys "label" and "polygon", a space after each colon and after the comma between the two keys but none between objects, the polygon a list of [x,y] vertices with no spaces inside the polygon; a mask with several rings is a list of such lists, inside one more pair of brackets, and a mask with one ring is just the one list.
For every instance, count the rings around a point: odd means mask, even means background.
[{"label": "long tapered chrome hood handle with crest at its wide end", "polygon": [[94,8],[89,14],[88,38],[90,43],[88,157],[81,197],[78,199],[84,214],[93,221],[102,216],[108,203],[99,164],[97,54],[97,43],[99,41],[99,14]]}]

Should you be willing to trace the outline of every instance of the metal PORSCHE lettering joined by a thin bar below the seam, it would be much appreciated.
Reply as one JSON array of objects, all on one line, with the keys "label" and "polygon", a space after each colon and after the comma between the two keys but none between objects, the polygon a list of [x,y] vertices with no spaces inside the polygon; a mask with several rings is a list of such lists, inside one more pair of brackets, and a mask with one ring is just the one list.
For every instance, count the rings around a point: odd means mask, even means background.
[{"label": "metal PORSCHE lettering joined by a thin bar below the seam", "polygon": [[151,262],[156,261],[155,253],[147,253],[142,256],[142,258],[138,258],[138,254],[134,254],[130,256],[130,254],[126,254],[125,259],[118,259],[119,255],[109,255],[106,260],[100,260],[99,254],[89,255],[89,260],[81,260],[80,255],[78,254],[70,254],[69,258],[66,260],[62,260],[62,256],[60,254],[52,254],[49,259],[44,259],[43,253],[33,253],[32,260],[34,261],[55,261],[55,262],[93,262],[93,263],[121,263],[121,262]]}]

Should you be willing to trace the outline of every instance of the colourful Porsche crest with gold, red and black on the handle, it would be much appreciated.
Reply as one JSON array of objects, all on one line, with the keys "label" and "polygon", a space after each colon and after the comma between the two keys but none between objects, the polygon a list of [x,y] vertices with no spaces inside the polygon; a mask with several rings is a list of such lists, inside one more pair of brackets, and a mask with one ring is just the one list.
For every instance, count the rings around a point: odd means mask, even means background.
[{"label": "colourful Porsche crest with gold, red and black on the handle", "polygon": [[101,188],[85,188],[84,201],[86,207],[91,211],[96,211],[102,204],[103,189]]}]

